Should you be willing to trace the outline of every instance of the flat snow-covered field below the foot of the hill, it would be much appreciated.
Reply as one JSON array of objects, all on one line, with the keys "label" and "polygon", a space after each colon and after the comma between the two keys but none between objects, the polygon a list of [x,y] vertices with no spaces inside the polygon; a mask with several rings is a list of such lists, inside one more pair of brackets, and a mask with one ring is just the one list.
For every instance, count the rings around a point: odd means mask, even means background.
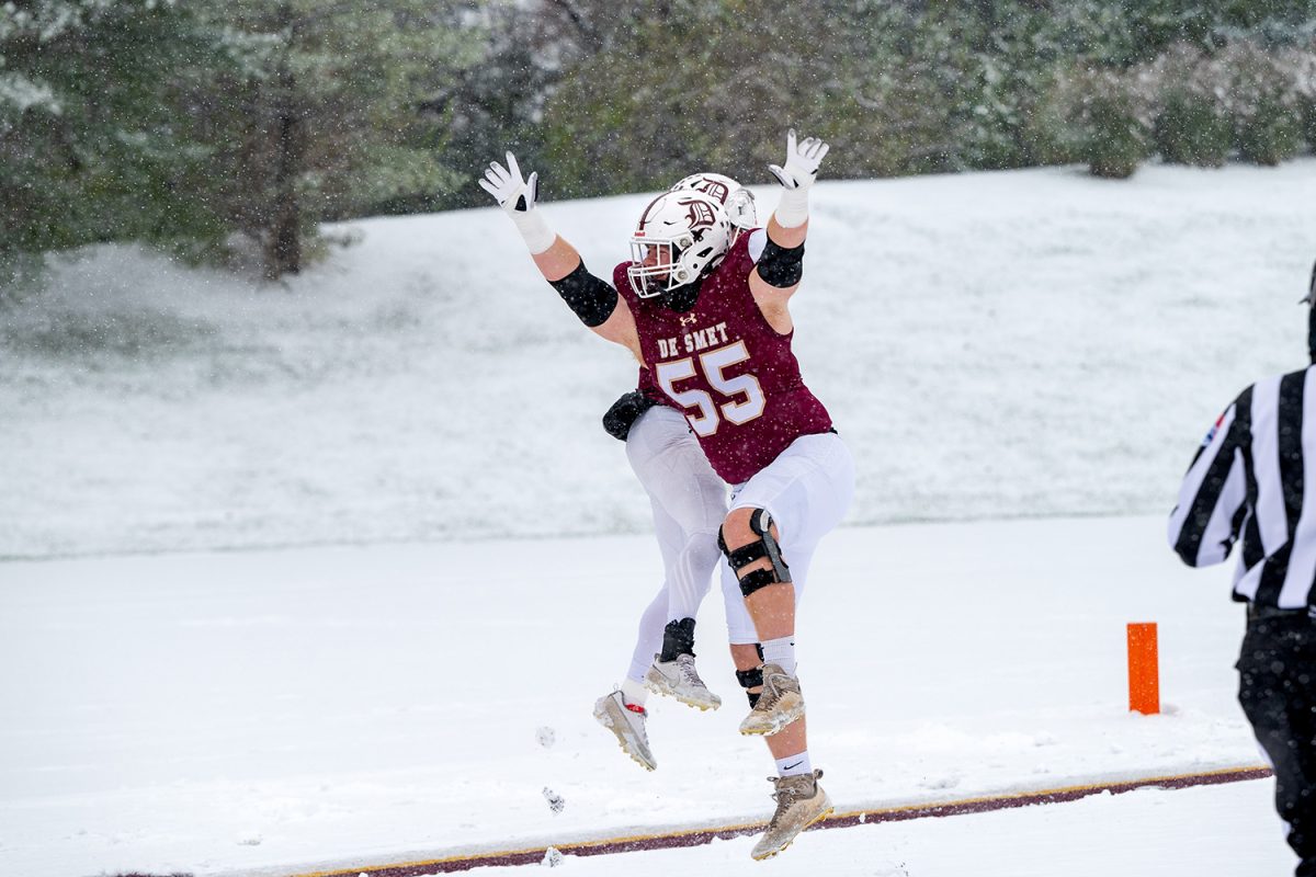
[{"label": "flat snow-covered field below the foot of the hill", "polygon": [[[1233,699],[1242,621],[1228,573],[1180,568],[1162,529],[1086,518],[830,536],[799,632],[811,749],[838,809],[1257,764]],[[736,732],[720,601],[705,601],[699,651],[726,705],[653,702],[655,773],[590,715],[657,580],[642,536],[0,564],[0,873],[286,874],[766,818],[772,764]],[[1130,621],[1159,623],[1162,715],[1126,713]],[[1086,843],[1111,856],[1100,826],[1117,813],[1175,810],[1178,834],[1159,843],[1180,851],[1242,819],[1246,853],[1169,873],[1282,873],[1227,866],[1288,856],[1266,795],[1242,786],[1270,781],[1026,813],[1082,834],[1087,817],[1042,813],[1101,811]],[[1194,794],[1217,802],[1203,805],[1209,827],[1177,811]],[[808,835],[780,861],[819,873],[805,851],[859,844],[867,870],[838,873],[951,873],[971,847],[913,866],[946,831],[973,843],[969,828],[862,827]],[[715,844],[694,870],[747,848]],[[1065,860],[1049,845],[1009,861],[976,873]]]}]

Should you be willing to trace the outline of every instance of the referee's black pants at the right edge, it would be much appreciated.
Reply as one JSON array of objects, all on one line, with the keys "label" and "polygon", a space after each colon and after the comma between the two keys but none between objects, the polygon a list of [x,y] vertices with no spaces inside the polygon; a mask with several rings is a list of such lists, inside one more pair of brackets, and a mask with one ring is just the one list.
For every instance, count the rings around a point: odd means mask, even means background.
[{"label": "referee's black pants at the right edge", "polygon": [[1238,702],[1275,769],[1298,877],[1316,877],[1316,619],[1252,618],[1238,656]]}]

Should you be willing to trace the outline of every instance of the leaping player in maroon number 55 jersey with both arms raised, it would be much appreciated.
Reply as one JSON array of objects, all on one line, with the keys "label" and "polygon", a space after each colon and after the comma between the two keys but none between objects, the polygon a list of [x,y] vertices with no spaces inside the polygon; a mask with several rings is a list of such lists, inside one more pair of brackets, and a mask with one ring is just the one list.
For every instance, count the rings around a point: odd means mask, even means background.
[{"label": "leaping player in maroon number 55 jersey with both arms raised", "polygon": [[[737,669],[762,690],[741,732],[765,735],[778,763],[776,811],[753,856],[775,856],[832,810],[812,769],[796,676],[795,607],[819,540],[854,492],[854,464],[791,352],[790,298],[803,273],[808,192],[826,143],[787,135],[769,170],[782,196],[766,229],[740,235],[716,199],[666,192],[630,235],[632,258],[612,284],[536,209],[538,175],[515,158],[492,163],[480,184],[521,233],[544,277],[580,321],[644,363],[679,406],[717,475],[732,486],[719,544],[736,571],[758,650],[733,647]],[[737,651],[738,650],[738,651]],[[750,660],[747,655],[753,653]]]}]

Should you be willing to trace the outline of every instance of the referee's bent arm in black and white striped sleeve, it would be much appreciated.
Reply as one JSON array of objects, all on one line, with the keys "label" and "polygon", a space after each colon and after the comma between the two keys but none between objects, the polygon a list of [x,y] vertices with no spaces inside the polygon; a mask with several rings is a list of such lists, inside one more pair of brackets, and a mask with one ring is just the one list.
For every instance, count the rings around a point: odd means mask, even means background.
[{"label": "referee's bent arm in black and white striped sleeve", "polygon": [[[1170,547],[1190,567],[1223,563],[1238,539],[1248,501],[1246,456],[1250,452],[1252,392],[1230,405],[1183,476],[1179,504],[1170,513]],[[1244,417],[1238,417],[1240,410]]]}]

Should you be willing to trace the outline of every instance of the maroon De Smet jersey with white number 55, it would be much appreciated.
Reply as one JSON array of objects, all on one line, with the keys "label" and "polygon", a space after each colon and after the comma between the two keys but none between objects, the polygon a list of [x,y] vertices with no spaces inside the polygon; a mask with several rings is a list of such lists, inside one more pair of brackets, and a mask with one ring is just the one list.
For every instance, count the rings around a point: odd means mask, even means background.
[{"label": "maroon De Smet jersey with white number 55", "polygon": [[[754,260],[746,231],[687,313],[641,298],[622,262],[612,272],[636,317],[651,384],[684,412],[704,455],[728,484],[747,481],[801,435],[826,433],[832,418],[800,377],[791,337],[780,335],[749,289]],[[651,385],[650,384],[650,385]]]}]

